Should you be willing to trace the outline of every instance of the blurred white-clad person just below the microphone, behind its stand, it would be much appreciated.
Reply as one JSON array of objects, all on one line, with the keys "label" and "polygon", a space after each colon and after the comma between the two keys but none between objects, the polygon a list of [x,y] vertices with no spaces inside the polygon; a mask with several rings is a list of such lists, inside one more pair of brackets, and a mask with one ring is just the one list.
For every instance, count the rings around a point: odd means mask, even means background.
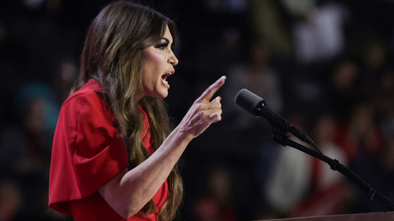
[{"label": "blurred white-clad person just below the microphone, behind its stand", "polygon": [[[291,116],[289,122],[305,131],[305,119],[302,116]],[[293,135],[289,138],[306,146]],[[263,197],[267,205],[276,212],[271,218],[291,217],[295,206],[302,202],[310,187],[312,179],[312,156],[289,146],[277,145],[278,154],[271,170],[266,186],[263,186]]]}]

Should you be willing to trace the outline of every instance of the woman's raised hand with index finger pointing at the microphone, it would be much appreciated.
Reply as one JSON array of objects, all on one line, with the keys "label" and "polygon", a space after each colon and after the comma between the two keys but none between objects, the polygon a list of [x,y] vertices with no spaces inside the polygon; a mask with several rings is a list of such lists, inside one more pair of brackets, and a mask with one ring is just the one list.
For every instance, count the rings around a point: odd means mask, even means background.
[{"label": "woman's raised hand with index finger pointing at the microphone", "polygon": [[217,96],[212,101],[210,100],[224,84],[225,79],[225,76],[219,78],[194,101],[178,126],[181,132],[191,135],[194,138],[203,133],[212,123],[222,119],[222,104],[220,103],[222,98]]}]

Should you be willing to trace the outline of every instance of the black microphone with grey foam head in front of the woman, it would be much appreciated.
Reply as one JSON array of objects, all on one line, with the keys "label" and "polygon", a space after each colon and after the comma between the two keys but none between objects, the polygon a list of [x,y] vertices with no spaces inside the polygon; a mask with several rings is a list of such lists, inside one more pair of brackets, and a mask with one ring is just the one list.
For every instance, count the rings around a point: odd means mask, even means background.
[{"label": "black microphone with grey foam head in front of the woman", "polygon": [[289,132],[306,143],[314,144],[308,135],[304,134],[284,118],[271,111],[271,109],[267,107],[265,100],[251,91],[247,89],[241,89],[238,91],[237,95],[235,95],[235,103],[252,115],[265,118],[272,127],[281,130],[284,134]]}]

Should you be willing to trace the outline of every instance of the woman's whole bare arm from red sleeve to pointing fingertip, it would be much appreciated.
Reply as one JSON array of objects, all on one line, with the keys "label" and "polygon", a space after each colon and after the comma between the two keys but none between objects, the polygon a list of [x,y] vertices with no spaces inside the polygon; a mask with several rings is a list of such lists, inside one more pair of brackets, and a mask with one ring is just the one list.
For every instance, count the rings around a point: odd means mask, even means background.
[{"label": "woman's whole bare arm from red sleeve to pointing fingertip", "polygon": [[218,79],[194,101],[178,127],[155,153],[131,171],[120,172],[98,190],[115,211],[124,217],[137,213],[163,185],[187,144],[221,120],[221,98],[210,99],[224,80],[224,76]]}]

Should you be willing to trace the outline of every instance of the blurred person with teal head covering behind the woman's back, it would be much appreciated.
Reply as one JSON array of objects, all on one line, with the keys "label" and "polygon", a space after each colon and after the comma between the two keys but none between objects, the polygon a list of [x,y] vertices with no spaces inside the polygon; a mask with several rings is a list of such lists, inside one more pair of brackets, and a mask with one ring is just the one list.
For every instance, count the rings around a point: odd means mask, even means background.
[{"label": "blurred person with teal head covering behind the woman's back", "polygon": [[17,121],[0,134],[0,168],[21,188],[23,207],[18,215],[41,217],[48,208],[48,171],[59,106],[45,84],[34,82],[19,91],[14,108]]}]

